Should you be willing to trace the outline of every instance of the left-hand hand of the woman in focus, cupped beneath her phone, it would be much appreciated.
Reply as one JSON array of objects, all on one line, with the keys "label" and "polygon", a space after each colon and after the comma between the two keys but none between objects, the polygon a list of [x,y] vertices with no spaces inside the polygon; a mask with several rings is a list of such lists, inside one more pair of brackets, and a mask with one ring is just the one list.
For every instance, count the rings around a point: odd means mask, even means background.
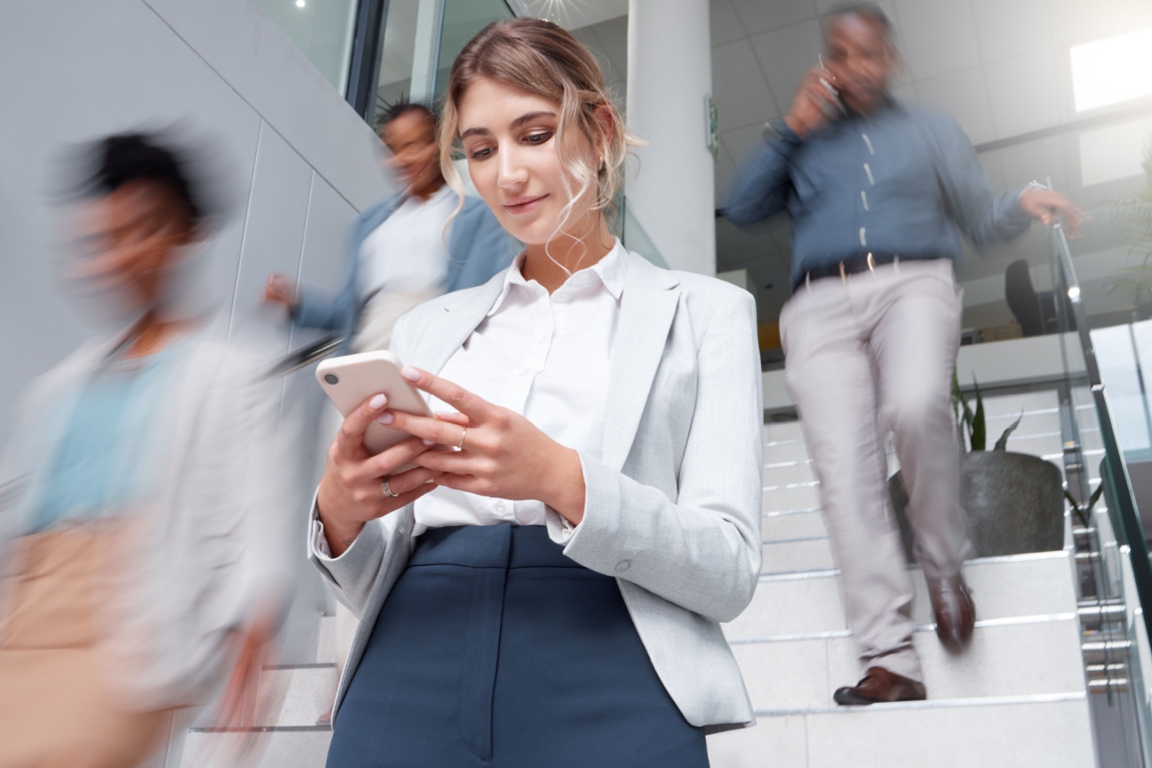
[{"label": "left-hand hand of the woman in focus, cupped beneath her phone", "polygon": [[[333,557],[339,557],[353,545],[364,524],[401,507],[412,503],[435,488],[429,482],[440,476],[439,470],[417,466],[393,474],[404,464],[414,463],[429,447],[420,438],[401,443],[370,456],[364,448],[364,431],[381,416],[388,398],[374,395],[348,415],[336,439],[328,448],[328,465],[324,470],[316,501],[324,523],[324,534]],[[431,419],[429,419],[431,420]],[[384,480],[395,497],[384,494]]]}]

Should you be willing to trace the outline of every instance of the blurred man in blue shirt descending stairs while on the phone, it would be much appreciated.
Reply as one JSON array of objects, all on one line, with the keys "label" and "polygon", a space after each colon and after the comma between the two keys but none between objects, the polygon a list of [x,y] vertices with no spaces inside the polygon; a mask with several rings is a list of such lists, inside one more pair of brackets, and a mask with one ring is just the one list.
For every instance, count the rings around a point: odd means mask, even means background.
[{"label": "blurred man in blue shirt descending stairs while on the phone", "polygon": [[886,516],[881,426],[895,435],[937,634],[958,652],[976,617],[961,573],[970,545],[949,412],[958,231],[979,246],[1018,236],[1032,219],[1062,216],[1075,231],[1078,213],[1036,182],[993,193],[950,116],[892,98],[900,56],[879,6],[831,12],[824,35],[826,67],[804,76],[738,169],[725,214],[748,225],[787,208],[791,219],[786,381],[866,668],[835,700],[923,699],[912,584]]}]

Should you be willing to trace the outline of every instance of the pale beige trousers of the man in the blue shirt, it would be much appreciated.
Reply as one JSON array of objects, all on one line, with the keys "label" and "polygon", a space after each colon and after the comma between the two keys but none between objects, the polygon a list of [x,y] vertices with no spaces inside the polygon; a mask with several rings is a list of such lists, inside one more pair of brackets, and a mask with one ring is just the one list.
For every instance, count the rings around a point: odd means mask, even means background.
[{"label": "pale beige trousers of the man in the blue shirt", "polygon": [[950,403],[961,310],[952,261],[934,259],[809,282],[780,314],[785,379],[820,481],[848,626],[864,667],[917,680],[884,438],[895,438],[925,576],[957,573],[970,552]]}]

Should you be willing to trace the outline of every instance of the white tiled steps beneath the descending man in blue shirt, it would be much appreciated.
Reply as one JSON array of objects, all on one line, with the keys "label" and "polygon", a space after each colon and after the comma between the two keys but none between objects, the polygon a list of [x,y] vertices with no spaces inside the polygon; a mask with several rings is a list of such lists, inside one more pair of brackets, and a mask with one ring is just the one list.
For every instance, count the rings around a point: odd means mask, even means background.
[{"label": "white tiled steps beneath the descending man in blue shirt", "polygon": [[[1001,405],[1011,418],[1020,412]],[[1039,426],[1048,411],[1031,411],[1013,449],[1051,451],[1052,433]],[[1030,450],[1037,442],[1044,448]],[[1054,444],[1059,456],[1059,427]],[[929,700],[840,707],[833,690],[863,670],[797,423],[765,426],[764,463],[760,585],[723,628],[758,724],[710,737],[714,768],[1096,766],[1071,549],[970,561],[979,621],[961,656],[938,642],[914,570],[914,641]]]}]

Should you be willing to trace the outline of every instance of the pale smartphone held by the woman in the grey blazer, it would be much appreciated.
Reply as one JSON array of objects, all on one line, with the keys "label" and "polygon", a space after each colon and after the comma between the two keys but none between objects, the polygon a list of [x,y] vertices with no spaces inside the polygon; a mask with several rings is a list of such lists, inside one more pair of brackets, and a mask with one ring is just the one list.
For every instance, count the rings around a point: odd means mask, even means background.
[{"label": "pale smartphone held by the woman in the grey blazer", "polygon": [[[420,393],[400,375],[402,367],[400,358],[387,350],[344,355],[323,360],[316,367],[316,380],[346,418],[365,400],[380,393],[387,395],[389,410],[432,416]],[[376,455],[409,436],[407,432],[373,420],[364,432],[364,448]],[[411,467],[396,471],[403,469]]]}]

